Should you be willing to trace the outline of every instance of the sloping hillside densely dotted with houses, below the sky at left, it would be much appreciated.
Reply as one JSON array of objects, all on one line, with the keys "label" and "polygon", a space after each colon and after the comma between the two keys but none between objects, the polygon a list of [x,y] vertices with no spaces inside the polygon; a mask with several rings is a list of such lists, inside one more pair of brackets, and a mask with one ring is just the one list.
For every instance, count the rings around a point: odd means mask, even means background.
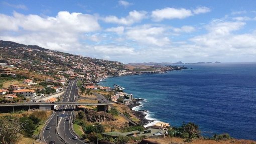
[{"label": "sloping hillside densely dotted with houses, below the sky at left", "polygon": [[124,65],[116,61],[93,59],[9,41],[0,41],[0,63],[47,75],[67,74],[75,77],[87,72],[87,76],[92,78],[112,75],[124,69]]}]

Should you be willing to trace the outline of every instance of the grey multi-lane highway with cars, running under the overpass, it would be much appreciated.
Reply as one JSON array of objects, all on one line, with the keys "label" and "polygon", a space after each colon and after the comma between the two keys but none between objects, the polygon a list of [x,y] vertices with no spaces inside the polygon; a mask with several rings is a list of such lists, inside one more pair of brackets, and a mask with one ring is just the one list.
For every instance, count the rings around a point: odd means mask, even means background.
[{"label": "grey multi-lane highway with cars, running under the overpass", "polygon": [[[65,91],[63,95],[63,102],[68,101],[74,101],[75,96],[77,95],[77,87],[76,87],[76,81],[72,81],[69,83],[67,90]],[[72,137],[75,135],[72,132],[71,126],[73,122],[73,115],[74,115],[74,106],[73,105],[60,105],[59,111],[54,112],[49,120],[46,123],[46,126],[43,127],[43,137],[42,140],[45,143],[49,143],[50,141],[55,141],[55,143],[64,143],[62,140],[65,141],[65,143],[85,143],[80,139],[72,139]],[[68,121],[66,121],[66,118],[69,118]],[[58,125],[57,125],[57,119],[58,119]],[[50,127],[50,129],[46,129],[47,127]],[[57,131],[56,131],[57,130]],[[58,134],[56,133],[58,132]]]}]

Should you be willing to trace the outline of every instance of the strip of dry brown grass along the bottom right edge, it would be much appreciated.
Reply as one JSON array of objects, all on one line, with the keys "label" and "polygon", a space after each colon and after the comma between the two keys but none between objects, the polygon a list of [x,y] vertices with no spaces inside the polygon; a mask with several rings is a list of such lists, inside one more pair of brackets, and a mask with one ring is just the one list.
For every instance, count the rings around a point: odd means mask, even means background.
[{"label": "strip of dry brown grass along the bottom right edge", "polygon": [[[165,138],[148,138],[148,140],[151,141],[156,141],[158,143],[166,143],[169,144],[171,142],[176,142],[176,143],[185,143],[183,142],[182,138],[176,138],[176,137],[165,137]],[[253,140],[244,140],[244,139],[229,139],[229,140],[220,140],[220,141],[215,141],[215,140],[204,140],[204,139],[196,139],[193,140],[193,142],[189,142],[191,144],[252,144],[256,143],[256,141]]]}]

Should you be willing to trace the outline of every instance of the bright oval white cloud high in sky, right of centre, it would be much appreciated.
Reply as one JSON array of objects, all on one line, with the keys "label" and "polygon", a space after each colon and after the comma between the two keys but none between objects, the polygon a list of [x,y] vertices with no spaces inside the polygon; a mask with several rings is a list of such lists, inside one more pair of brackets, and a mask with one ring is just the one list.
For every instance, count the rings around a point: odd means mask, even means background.
[{"label": "bright oval white cloud high in sky, right of centre", "polygon": [[162,21],[164,19],[184,19],[192,16],[192,12],[186,9],[174,9],[165,8],[161,10],[155,10],[152,12],[152,18],[154,21]]}]

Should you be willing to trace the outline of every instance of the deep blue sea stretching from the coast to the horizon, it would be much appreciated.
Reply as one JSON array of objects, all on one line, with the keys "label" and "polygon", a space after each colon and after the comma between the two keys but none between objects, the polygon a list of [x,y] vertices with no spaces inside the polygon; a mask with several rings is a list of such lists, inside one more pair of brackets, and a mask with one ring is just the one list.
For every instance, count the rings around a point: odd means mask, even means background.
[{"label": "deep blue sea stretching from the coast to the horizon", "polygon": [[[256,140],[256,63],[190,64],[164,74],[110,77],[101,85],[124,87],[146,99],[136,109],[180,126],[195,122],[206,136],[229,133]],[[192,69],[190,69],[192,68]]]}]

